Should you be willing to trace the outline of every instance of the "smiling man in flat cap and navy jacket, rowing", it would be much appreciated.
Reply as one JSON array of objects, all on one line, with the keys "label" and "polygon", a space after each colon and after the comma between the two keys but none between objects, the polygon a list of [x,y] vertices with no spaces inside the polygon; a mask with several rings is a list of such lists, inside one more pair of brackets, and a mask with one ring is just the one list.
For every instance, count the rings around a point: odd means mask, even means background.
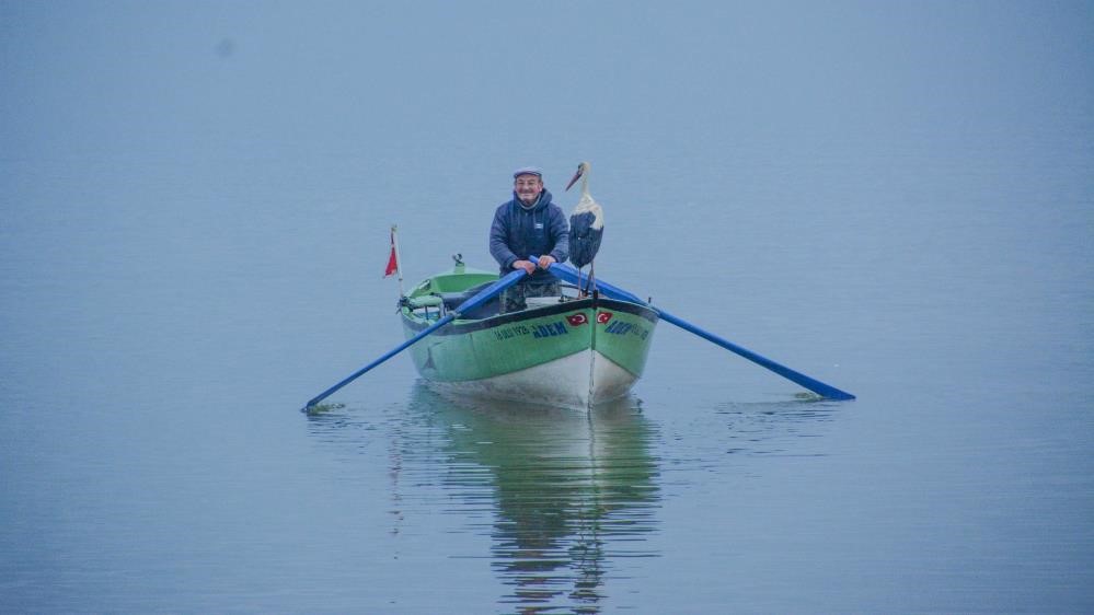
[{"label": "smiling man in flat cap and navy jacket, rowing", "polygon": [[[539,169],[526,166],[514,172],[513,200],[494,212],[490,253],[503,276],[514,269],[528,271],[527,278],[502,293],[502,313],[523,310],[526,297],[561,294],[558,278],[548,267],[564,263],[569,255],[569,225],[562,208],[551,202]],[[540,257],[537,263],[528,259],[533,255]]]}]

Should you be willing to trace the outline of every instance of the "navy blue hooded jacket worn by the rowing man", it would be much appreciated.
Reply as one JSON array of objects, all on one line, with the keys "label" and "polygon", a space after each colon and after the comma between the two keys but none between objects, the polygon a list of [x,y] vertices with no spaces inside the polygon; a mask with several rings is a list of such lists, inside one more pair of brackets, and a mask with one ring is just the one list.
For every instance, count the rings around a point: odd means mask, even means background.
[{"label": "navy blue hooded jacket worn by the rowing man", "polygon": [[[513,200],[503,202],[494,212],[490,228],[490,253],[502,268],[502,275],[513,271],[517,260],[529,256],[550,254],[558,263],[569,256],[569,224],[562,208],[551,202],[546,188],[532,207],[525,207],[513,194]],[[529,283],[553,282],[550,271],[537,269]]]}]

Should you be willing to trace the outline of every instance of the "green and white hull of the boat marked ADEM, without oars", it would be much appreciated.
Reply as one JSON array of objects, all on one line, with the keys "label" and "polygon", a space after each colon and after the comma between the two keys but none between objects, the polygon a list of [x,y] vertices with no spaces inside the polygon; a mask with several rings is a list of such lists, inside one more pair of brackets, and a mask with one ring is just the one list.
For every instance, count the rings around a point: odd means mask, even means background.
[{"label": "green and white hull of the boat marked ADEM, without oars", "polygon": [[[425,280],[401,309],[406,337],[444,314],[444,299],[450,309],[461,291],[496,279],[458,270]],[[457,318],[411,347],[415,368],[441,393],[583,409],[625,395],[645,369],[657,313],[603,298],[538,301]]]}]

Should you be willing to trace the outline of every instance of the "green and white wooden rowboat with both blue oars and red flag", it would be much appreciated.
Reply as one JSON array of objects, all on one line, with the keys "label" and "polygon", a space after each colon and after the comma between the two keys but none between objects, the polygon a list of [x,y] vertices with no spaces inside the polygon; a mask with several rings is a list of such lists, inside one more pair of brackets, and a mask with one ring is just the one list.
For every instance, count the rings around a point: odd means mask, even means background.
[{"label": "green and white wooden rowboat with both blue oars and red flag", "polygon": [[[396,262],[394,254],[393,246],[392,263]],[[577,285],[574,288],[588,281],[563,263],[551,265],[551,271]],[[319,411],[323,399],[407,348],[412,348],[418,373],[440,393],[590,409],[622,397],[642,378],[659,321],[716,344],[819,397],[855,398],[665,309],[655,309],[602,279],[597,279],[591,297],[539,298],[529,300],[526,310],[499,314],[498,294],[525,275],[515,270],[499,278],[470,270],[457,258],[451,271],[423,280],[400,299],[406,341],[312,397],[301,410]]]}]

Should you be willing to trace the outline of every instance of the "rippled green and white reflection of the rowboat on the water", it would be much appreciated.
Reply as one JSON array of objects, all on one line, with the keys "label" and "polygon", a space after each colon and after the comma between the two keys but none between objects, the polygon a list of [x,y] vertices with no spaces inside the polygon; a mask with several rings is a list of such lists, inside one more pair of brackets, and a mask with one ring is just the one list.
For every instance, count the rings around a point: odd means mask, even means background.
[{"label": "rippled green and white reflection of the rowboat on the water", "polygon": [[472,507],[493,489],[493,566],[513,588],[503,603],[596,612],[613,567],[655,555],[636,539],[656,527],[659,500],[653,431],[636,398],[576,413],[472,408],[425,387],[416,397],[450,427],[447,452],[461,471],[447,484]]}]

